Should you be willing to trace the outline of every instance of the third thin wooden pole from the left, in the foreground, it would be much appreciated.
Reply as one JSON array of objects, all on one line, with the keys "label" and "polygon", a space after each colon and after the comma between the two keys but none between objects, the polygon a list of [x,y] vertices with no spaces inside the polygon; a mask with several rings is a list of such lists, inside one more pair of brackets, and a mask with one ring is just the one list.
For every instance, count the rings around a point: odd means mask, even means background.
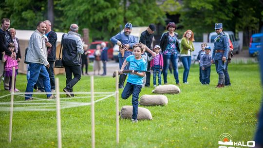
[{"label": "third thin wooden pole from the left, in the foreground", "polygon": [[92,148],[95,148],[94,76],[91,76]]}]

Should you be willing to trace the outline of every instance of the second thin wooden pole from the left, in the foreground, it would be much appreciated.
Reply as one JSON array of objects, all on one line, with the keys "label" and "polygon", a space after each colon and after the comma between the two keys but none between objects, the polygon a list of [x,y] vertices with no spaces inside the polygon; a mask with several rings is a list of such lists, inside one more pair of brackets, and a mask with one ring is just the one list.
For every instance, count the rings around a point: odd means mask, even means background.
[{"label": "second thin wooden pole from the left, in the foreground", "polygon": [[56,127],[57,127],[57,148],[62,148],[61,140],[61,117],[60,117],[60,96],[59,79],[56,78]]}]

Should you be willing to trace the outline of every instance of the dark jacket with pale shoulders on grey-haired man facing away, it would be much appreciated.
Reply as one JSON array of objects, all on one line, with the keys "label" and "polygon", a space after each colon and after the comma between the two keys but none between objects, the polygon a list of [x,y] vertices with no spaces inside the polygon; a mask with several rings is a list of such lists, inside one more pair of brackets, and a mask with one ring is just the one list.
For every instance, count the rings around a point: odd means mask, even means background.
[{"label": "dark jacket with pale shoulders on grey-haired man facing away", "polygon": [[81,64],[79,54],[83,54],[83,46],[80,34],[75,32],[68,32],[63,38],[62,61],[64,65],[74,66]]}]

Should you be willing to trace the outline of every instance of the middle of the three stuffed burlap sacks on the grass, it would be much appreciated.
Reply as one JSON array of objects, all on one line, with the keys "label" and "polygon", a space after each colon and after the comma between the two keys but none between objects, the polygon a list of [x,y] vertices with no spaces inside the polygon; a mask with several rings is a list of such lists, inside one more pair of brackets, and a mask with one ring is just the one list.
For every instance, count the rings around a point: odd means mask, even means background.
[{"label": "middle of the three stuffed burlap sacks on the grass", "polygon": [[156,94],[156,95],[149,95],[144,94],[140,98],[140,105],[167,105],[168,99],[165,95]]}]

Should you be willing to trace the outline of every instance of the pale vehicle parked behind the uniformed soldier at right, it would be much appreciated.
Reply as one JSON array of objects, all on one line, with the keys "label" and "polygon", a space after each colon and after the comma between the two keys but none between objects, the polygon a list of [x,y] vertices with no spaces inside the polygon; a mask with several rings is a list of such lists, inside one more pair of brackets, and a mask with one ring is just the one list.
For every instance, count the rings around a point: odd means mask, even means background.
[{"label": "pale vehicle parked behind the uniformed soldier at right", "polygon": [[[224,31],[225,35],[230,38],[232,44],[233,44],[233,53],[236,53],[238,54],[241,50],[241,48],[239,47],[239,39],[237,39],[234,35],[234,33],[232,31]],[[209,37],[208,37],[208,42],[209,43],[213,43],[214,42],[214,39],[217,37],[217,33],[216,32],[211,32],[209,34]]]}]

